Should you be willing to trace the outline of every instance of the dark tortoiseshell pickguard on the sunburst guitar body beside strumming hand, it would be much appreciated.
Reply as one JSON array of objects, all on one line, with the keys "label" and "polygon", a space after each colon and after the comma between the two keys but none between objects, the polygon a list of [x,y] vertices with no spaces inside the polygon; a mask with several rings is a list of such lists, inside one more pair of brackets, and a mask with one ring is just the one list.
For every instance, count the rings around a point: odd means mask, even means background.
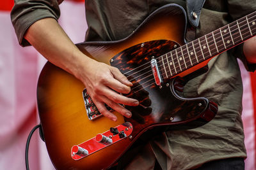
[{"label": "dark tortoiseshell pickguard on the sunburst guitar body beside strumming hand", "polygon": [[139,106],[125,106],[132,112],[132,118],[125,118],[125,121],[131,122],[135,127],[132,132],[135,136],[152,126],[191,122],[198,119],[207,108],[208,100],[204,97],[195,99],[179,97],[172,81],[166,82],[170,84],[171,89],[166,83],[162,88],[154,83],[150,67],[152,56],[157,59],[164,53],[172,51],[174,45],[178,44],[168,40],[148,41],[132,46],[111,59],[111,66],[120,69],[133,83],[131,93],[125,96],[140,101]]}]

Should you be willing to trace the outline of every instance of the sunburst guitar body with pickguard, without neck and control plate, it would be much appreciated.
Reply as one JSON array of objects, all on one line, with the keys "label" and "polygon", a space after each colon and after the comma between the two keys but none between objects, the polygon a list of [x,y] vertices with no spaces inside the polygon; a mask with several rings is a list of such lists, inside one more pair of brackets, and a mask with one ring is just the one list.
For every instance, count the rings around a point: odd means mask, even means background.
[{"label": "sunburst guitar body with pickguard, without neck and control plate", "polygon": [[[183,45],[185,28],[186,14],[183,8],[170,4],[152,13],[131,36],[125,39],[80,43],[77,47],[93,59],[116,66],[125,76],[131,76],[127,71],[150,62],[152,56],[159,57],[167,50],[175,48],[175,45]],[[110,62],[111,59],[113,62]],[[150,70],[150,67],[145,70],[147,69]],[[45,144],[56,169],[107,169],[115,164],[143,132],[152,127],[172,125],[171,128],[175,129],[180,125],[186,126],[188,122],[191,122],[191,125],[198,125],[200,122],[202,125],[208,122],[207,118],[204,118],[205,113],[213,112],[214,117],[216,108],[212,108],[208,99],[180,97],[178,91],[182,81],[179,78],[173,78],[170,86],[163,86],[160,89],[154,84],[145,83],[147,80],[138,78],[141,74],[147,75],[146,72],[139,73],[136,77],[135,74],[131,76],[135,78],[134,82],[138,83],[138,89],[133,90],[134,95],[136,96],[138,90],[146,92],[147,95],[140,100],[150,101],[148,106],[143,106],[147,110],[145,113],[142,111],[137,115],[133,114],[132,118],[124,118],[114,111],[118,118],[116,122],[106,117],[92,121],[86,115],[82,95],[83,83],[50,62],[45,64],[38,80],[38,112]],[[108,131],[110,127],[125,122],[130,122],[133,126],[131,138],[124,138],[83,159],[72,159],[72,146],[95,138],[97,134]]]}]

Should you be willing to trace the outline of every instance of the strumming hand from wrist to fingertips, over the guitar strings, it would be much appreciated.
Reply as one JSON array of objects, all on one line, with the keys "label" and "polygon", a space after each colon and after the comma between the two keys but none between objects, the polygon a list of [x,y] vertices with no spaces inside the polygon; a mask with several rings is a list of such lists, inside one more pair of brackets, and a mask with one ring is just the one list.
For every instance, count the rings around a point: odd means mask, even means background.
[{"label": "strumming hand from wrist to fingertips, over the guitar strings", "polygon": [[[84,67],[86,66],[86,67]],[[104,106],[106,103],[113,110],[125,117],[131,117],[131,111],[120,104],[138,106],[139,101],[120,95],[131,91],[132,83],[116,68],[92,60],[90,63],[81,64],[79,79],[83,81],[93,103],[102,115],[116,121],[116,116]]]}]

